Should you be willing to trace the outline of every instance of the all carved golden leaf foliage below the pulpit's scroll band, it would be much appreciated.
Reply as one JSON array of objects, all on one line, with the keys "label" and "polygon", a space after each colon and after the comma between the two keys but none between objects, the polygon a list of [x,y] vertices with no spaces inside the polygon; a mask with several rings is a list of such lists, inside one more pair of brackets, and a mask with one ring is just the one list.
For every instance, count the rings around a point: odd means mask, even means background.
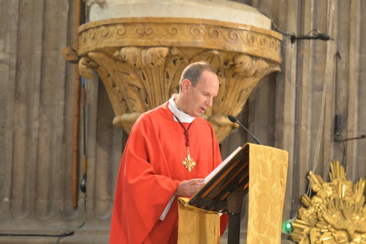
[{"label": "all carved golden leaf foliage below the pulpit's scroll band", "polygon": [[79,61],[81,75],[90,78],[93,69],[103,81],[116,117],[113,125],[130,133],[142,113],[169,100],[179,92],[183,69],[190,63],[206,60],[217,70],[220,89],[213,106],[203,114],[213,126],[217,140],[222,142],[236,124],[227,119],[237,116],[255,85],[278,65],[247,54],[218,50],[189,50],[187,57],[176,47],[122,47],[113,56],[90,52]]}]

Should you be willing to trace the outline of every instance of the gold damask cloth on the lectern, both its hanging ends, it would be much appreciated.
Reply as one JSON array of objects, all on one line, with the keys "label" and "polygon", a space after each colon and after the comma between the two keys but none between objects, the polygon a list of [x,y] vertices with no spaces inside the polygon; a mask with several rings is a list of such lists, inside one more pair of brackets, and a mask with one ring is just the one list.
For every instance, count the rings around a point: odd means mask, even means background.
[{"label": "gold damask cloth on the lectern, both its hanging ends", "polygon": [[[281,242],[287,159],[287,151],[249,145],[247,244]],[[219,213],[190,206],[188,198],[178,201],[178,244],[219,244]]]}]

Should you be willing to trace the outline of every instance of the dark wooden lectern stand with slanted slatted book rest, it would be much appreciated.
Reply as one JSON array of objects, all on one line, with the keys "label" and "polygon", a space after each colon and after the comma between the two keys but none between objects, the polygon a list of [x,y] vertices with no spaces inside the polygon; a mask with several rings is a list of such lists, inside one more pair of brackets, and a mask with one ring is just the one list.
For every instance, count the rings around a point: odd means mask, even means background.
[{"label": "dark wooden lectern stand with slanted slatted book rest", "polygon": [[249,190],[249,144],[245,144],[188,202],[229,215],[228,243],[239,244],[243,196]]}]

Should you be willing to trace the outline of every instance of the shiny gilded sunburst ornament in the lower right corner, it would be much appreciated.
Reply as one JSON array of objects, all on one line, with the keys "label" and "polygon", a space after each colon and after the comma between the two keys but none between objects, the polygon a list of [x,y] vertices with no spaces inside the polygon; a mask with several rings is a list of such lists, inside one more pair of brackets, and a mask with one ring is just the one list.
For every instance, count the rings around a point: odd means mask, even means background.
[{"label": "shiny gilded sunburst ornament in the lower right corner", "polygon": [[[312,178],[311,178],[312,176]],[[366,243],[365,180],[355,184],[346,180],[339,161],[330,163],[330,182],[311,171],[307,178],[317,192],[311,199],[304,194],[305,207],[298,211],[292,223],[292,240],[300,244],[356,244]]]}]

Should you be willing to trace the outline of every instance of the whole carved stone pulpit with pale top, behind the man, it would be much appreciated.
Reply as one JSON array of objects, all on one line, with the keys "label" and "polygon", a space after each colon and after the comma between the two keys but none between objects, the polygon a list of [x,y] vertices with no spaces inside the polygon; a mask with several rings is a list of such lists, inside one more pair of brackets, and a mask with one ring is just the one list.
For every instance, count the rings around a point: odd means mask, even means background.
[{"label": "whole carved stone pulpit with pale top, behind the man", "polygon": [[142,113],[179,91],[183,69],[210,62],[220,81],[203,114],[221,143],[258,82],[279,71],[281,35],[257,9],[226,0],[94,0],[79,27],[79,70],[107,89],[113,125],[130,133]]}]

